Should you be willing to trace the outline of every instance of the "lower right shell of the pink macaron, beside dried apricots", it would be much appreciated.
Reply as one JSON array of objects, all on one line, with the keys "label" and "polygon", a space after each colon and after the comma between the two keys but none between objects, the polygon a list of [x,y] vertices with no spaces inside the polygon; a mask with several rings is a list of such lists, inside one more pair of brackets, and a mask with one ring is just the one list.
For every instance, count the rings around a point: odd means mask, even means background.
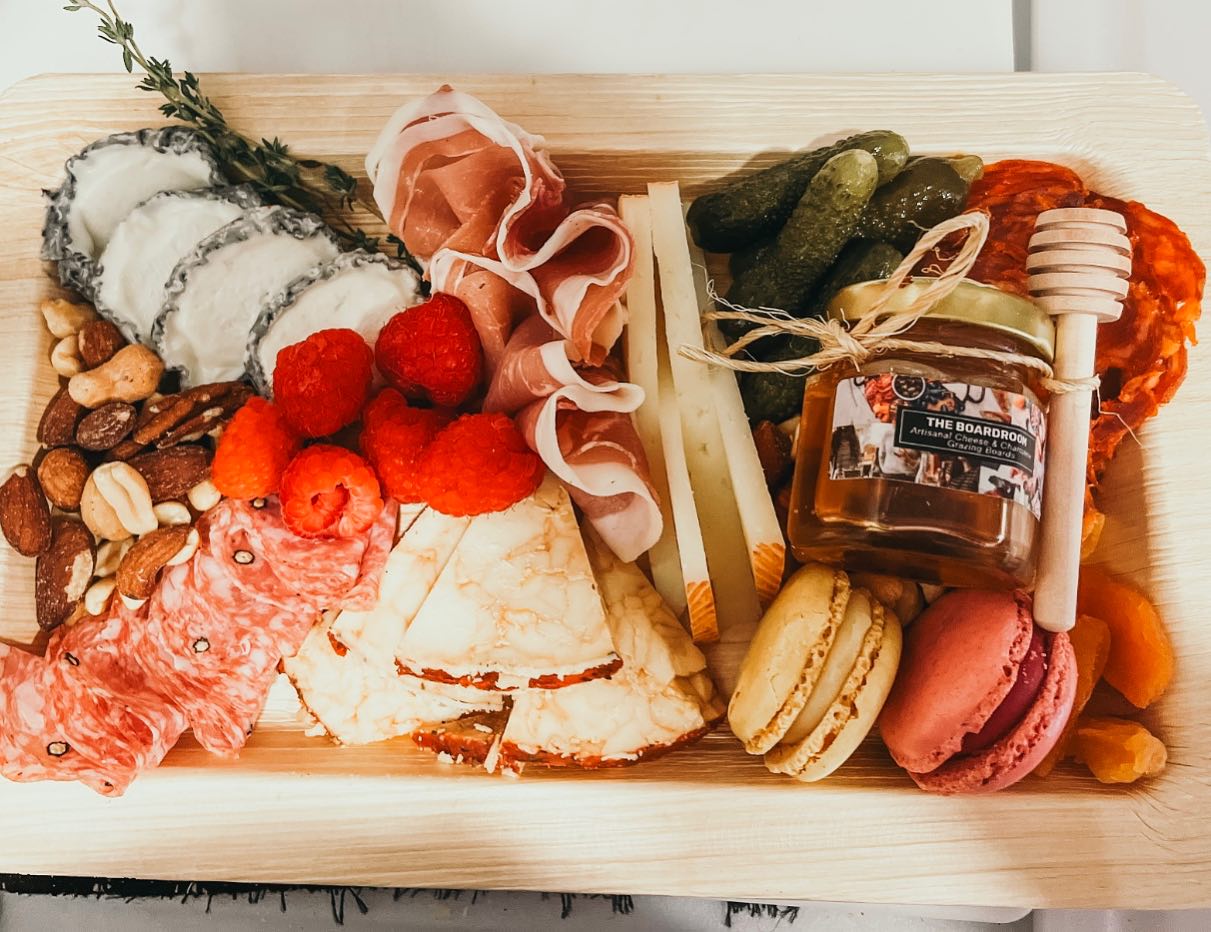
[{"label": "lower right shell of the pink macaron, beside dried apricots", "polygon": [[1017,783],[1055,747],[1077,698],[1077,655],[1067,634],[1055,634],[1048,675],[1026,717],[1009,735],[980,754],[947,761],[930,773],[909,776],[922,789],[953,795],[992,793]]}]

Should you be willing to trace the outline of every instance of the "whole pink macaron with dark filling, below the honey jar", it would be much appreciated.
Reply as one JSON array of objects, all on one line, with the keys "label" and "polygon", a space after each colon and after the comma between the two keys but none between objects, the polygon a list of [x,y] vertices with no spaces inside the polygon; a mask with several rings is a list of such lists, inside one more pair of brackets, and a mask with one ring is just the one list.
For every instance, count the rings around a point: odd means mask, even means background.
[{"label": "whole pink macaron with dark filling, below the honey jar", "polygon": [[879,731],[931,793],[991,793],[1038,766],[1077,694],[1067,634],[1035,626],[1023,593],[960,589],[906,629]]}]

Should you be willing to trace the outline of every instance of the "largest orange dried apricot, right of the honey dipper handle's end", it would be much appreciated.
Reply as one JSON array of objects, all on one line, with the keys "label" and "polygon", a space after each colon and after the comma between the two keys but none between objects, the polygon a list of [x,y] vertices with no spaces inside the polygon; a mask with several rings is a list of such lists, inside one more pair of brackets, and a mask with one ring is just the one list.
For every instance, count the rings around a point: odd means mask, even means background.
[{"label": "largest orange dried apricot, right of the honey dipper handle's end", "polygon": [[1173,678],[1173,646],[1147,597],[1104,570],[1081,566],[1077,610],[1110,628],[1106,681],[1137,708],[1155,702]]}]

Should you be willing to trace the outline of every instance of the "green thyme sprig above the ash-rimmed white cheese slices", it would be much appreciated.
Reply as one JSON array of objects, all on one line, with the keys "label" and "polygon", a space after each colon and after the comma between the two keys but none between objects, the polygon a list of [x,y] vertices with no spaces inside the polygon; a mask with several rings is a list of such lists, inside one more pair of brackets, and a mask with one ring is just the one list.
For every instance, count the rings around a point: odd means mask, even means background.
[{"label": "green thyme sprig above the ash-rimmed white cheese slices", "polygon": [[[378,208],[358,194],[354,176],[338,165],[295,156],[277,137],[256,142],[233,130],[223,111],[202,93],[197,75],[184,71],[178,76],[166,58],[143,53],[134,41],[134,24],[122,19],[114,0],[105,0],[104,6],[92,0],[70,0],[63,8],[69,13],[90,10],[97,15],[98,35],[122,50],[126,70],[134,74],[138,67],[143,71],[138,88],[161,94],[165,103],[160,113],[189,123],[206,139],[233,180],[252,186],[270,203],[323,217],[349,248],[379,248],[378,237],[354,226],[345,215],[351,211],[379,215]],[[389,235],[386,241],[400,258],[415,265],[398,237]]]}]

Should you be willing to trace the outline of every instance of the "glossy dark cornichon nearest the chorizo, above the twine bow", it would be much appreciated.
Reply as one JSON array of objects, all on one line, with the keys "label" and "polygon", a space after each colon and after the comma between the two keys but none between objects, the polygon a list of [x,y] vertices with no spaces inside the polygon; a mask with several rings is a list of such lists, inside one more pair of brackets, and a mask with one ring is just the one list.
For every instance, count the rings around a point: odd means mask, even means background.
[{"label": "glossy dark cornichon nearest the chorizo, above the twine bow", "polygon": [[982,167],[975,155],[913,159],[871,197],[857,222],[857,236],[907,252],[925,230],[963,211]]}]

